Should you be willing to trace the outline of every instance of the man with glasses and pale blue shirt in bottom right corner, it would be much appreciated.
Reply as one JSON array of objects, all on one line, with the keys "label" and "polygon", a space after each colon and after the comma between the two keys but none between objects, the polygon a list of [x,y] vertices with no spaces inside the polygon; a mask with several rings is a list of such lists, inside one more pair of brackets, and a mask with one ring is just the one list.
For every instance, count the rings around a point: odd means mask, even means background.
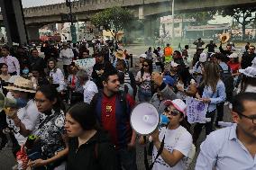
[{"label": "man with glasses and pale blue shirt in bottom right corner", "polygon": [[233,99],[234,123],[207,136],[196,170],[255,169],[256,94],[237,94]]}]

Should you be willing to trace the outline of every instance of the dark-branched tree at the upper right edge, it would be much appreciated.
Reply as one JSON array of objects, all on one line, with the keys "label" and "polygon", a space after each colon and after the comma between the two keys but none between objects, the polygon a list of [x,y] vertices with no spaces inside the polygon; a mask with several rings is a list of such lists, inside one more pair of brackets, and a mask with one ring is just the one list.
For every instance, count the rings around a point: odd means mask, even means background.
[{"label": "dark-branched tree at the upper right edge", "polygon": [[245,28],[246,25],[249,23],[255,21],[255,17],[251,17],[251,13],[256,12],[256,7],[255,6],[242,6],[242,7],[237,7],[237,8],[225,8],[220,11],[220,13],[223,16],[232,16],[233,19],[238,22],[239,24],[242,25],[242,40],[245,38]]}]

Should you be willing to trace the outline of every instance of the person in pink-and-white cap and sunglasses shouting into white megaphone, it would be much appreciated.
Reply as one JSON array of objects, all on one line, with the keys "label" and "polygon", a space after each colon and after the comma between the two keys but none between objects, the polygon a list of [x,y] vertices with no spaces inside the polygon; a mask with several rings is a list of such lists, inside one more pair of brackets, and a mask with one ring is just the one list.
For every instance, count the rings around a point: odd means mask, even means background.
[{"label": "person in pink-and-white cap and sunglasses shouting into white megaphone", "polygon": [[[192,136],[186,129],[186,108],[187,105],[180,99],[165,101],[165,112],[169,119],[167,127],[154,130],[151,133],[151,140],[154,144],[152,154],[152,165],[149,169],[153,170],[183,170],[192,161],[195,155]],[[163,145],[163,148],[161,148]],[[162,149],[162,150],[161,150]],[[160,156],[158,157],[160,153]],[[187,165],[186,159],[190,159]]]}]

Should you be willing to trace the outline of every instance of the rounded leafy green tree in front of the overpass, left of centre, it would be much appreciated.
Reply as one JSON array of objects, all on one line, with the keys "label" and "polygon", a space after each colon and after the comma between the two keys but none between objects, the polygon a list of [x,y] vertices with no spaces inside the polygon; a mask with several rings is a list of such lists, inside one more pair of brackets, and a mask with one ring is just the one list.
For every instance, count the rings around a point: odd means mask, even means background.
[{"label": "rounded leafy green tree in front of the overpass, left of centre", "polygon": [[92,23],[97,28],[102,27],[105,31],[111,31],[114,40],[117,38],[118,31],[127,27],[132,20],[133,13],[128,9],[118,6],[105,9],[92,17]]}]

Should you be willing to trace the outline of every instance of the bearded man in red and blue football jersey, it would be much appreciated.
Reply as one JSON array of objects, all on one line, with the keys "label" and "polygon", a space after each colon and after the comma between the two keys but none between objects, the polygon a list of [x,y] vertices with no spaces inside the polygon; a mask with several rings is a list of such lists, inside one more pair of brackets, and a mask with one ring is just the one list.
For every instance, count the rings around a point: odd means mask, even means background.
[{"label": "bearded man in red and blue football jersey", "polygon": [[103,91],[92,100],[96,117],[110,134],[118,158],[119,168],[137,170],[136,134],[130,125],[130,115],[135,102],[129,94],[119,91],[120,82],[114,67],[108,67],[102,75]]}]

